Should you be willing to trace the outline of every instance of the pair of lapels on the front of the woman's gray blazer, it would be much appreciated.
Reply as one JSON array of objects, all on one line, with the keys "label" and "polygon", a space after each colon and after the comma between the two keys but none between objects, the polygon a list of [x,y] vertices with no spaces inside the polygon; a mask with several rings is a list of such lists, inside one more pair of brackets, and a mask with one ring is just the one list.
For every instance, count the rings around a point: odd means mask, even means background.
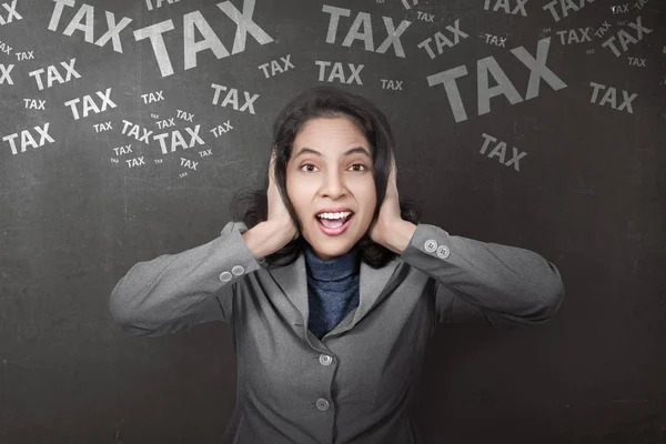
[{"label": "pair of lapels on the front of the woman's gray blazer", "polygon": [[[376,303],[386,286],[386,283],[393,275],[397,264],[398,256],[393,258],[386,265],[380,269],[373,269],[361,261],[360,282],[359,282],[359,306],[350,313],[339,325],[329,332],[342,333],[352,329],[361,321]],[[303,316],[302,320],[293,320],[293,324],[305,325],[307,329],[309,301],[307,301],[307,272],[305,268],[305,255],[303,252],[289,265],[279,268],[269,268],[269,273],[280,285],[286,297],[296,307]]]}]

